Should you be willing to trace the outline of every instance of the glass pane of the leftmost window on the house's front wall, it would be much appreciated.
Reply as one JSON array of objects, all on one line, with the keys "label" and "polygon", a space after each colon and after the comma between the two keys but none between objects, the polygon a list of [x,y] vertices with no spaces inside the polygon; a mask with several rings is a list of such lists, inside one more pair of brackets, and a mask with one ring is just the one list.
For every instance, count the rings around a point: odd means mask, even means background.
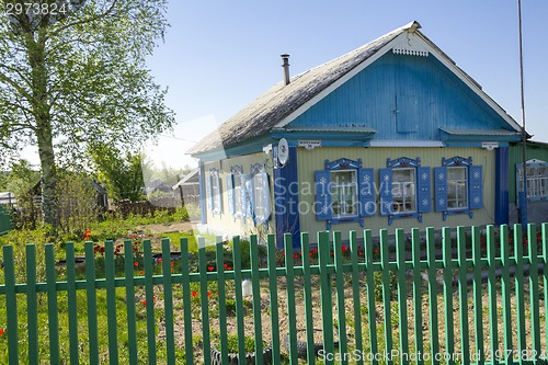
[{"label": "glass pane of the leftmost window on the house's front wall", "polygon": [[357,216],[357,171],[331,171],[331,205],[334,217]]}]

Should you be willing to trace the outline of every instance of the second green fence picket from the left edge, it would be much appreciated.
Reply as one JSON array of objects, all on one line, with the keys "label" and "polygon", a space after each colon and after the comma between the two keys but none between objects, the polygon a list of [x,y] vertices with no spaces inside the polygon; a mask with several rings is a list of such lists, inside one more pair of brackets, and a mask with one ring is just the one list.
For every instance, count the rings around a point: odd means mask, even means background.
[{"label": "second green fence picket from the left edge", "polygon": [[[36,246],[26,244],[26,321],[28,324],[28,364],[38,364],[38,304],[36,295]],[[10,306],[7,306],[10,308]],[[8,312],[10,316],[10,312]],[[72,360],[71,360],[72,362]],[[77,364],[77,363],[76,363]]]}]

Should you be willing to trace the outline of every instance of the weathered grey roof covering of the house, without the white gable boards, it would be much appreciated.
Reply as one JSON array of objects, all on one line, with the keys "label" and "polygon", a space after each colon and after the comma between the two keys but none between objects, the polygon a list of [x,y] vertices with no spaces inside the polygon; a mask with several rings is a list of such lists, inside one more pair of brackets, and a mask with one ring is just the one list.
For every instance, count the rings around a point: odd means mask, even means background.
[{"label": "weathered grey roof covering of the house, without the white gable boards", "polygon": [[[216,130],[204,137],[189,150],[189,153],[196,156],[221,150],[225,147],[242,142],[249,138],[264,135],[274,127],[279,127],[281,122],[290,116],[292,113],[358,67],[400,34],[415,32],[420,27],[421,25],[418,22],[411,22],[339,58],[292,77],[288,84],[285,84],[283,81],[276,83],[243,110],[222,123]],[[477,90],[481,90],[481,87],[459,69],[447,55],[422,33],[420,34],[443,58],[458,70],[460,77],[467,79]],[[487,94],[483,93],[483,96],[493,102]],[[500,111],[502,112],[501,114],[505,114],[502,109]]]}]

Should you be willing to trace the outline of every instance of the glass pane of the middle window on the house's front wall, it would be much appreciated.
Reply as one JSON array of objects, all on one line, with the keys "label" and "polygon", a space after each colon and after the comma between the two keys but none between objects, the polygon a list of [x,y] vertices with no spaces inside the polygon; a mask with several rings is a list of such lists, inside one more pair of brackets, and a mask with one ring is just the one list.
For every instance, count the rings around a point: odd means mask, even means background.
[{"label": "glass pane of the middle window on the house's front wall", "polygon": [[416,212],[415,169],[392,170],[393,213]]}]

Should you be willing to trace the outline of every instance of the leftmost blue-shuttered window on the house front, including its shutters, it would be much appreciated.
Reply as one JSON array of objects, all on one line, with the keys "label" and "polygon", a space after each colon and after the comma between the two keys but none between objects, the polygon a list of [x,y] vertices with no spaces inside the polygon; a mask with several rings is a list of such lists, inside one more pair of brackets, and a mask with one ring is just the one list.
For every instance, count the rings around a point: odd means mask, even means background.
[{"label": "leftmost blue-shuttered window on the house front, including its shutters", "polygon": [[346,221],[364,227],[364,218],[376,213],[373,169],[362,168],[362,159],[326,160],[323,170],[316,171],[313,213],[327,229]]}]

